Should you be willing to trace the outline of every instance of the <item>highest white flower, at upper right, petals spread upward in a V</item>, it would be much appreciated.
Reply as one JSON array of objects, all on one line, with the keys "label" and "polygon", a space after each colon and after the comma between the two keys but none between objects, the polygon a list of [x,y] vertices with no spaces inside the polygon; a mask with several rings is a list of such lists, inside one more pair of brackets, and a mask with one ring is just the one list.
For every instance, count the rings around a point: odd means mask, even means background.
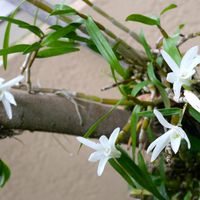
[{"label": "highest white flower, at upper right, petals spread upward in a V", "polygon": [[167,81],[173,83],[175,99],[180,97],[182,85],[190,85],[190,80],[195,74],[194,68],[200,63],[200,56],[197,53],[198,46],[190,48],[183,56],[179,67],[167,52],[161,50],[162,57],[173,71],[167,74]]}]

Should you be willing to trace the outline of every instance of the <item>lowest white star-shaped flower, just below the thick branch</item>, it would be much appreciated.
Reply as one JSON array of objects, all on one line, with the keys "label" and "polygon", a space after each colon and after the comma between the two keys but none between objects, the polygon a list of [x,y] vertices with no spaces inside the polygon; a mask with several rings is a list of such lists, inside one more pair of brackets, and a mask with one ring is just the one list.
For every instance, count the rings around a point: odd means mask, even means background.
[{"label": "lowest white star-shaped flower, just below the thick branch", "polygon": [[119,135],[119,132],[120,129],[116,128],[110,135],[109,139],[105,135],[102,135],[99,138],[100,143],[92,142],[83,137],[77,137],[77,140],[80,143],[95,150],[95,152],[90,155],[88,160],[90,162],[96,162],[99,160],[99,165],[97,169],[98,176],[102,175],[105,165],[110,158],[119,158],[121,155],[120,151],[118,151],[115,147],[115,142]]}]

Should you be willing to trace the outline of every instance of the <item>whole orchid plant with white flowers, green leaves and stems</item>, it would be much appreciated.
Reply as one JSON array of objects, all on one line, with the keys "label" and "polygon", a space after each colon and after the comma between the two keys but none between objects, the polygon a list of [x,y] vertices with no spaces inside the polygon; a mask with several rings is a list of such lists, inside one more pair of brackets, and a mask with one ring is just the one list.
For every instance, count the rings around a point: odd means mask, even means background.
[{"label": "whole orchid plant with white flowers, green leaves and stems", "polygon": [[[164,13],[177,7],[175,4],[165,7],[159,17],[148,17],[138,13],[129,15],[126,21],[158,28],[161,39],[156,43],[156,48],[152,48],[143,31],[137,34],[89,0],[83,1],[129,34],[144,52],[141,54],[100,22],[64,3],[51,9],[43,2],[29,0],[29,3],[39,9],[49,12],[49,17],[70,23],[54,24],[45,32],[35,24],[15,20],[15,13],[10,17],[0,16],[0,20],[8,22],[4,48],[0,50],[4,69],[7,69],[8,54],[21,52],[26,55],[21,69],[22,75],[7,82],[0,79],[0,101],[8,119],[12,120],[13,116],[11,104],[16,105],[14,96],[10,93],[11,87],[20,83],[26,76],[26,89],[29,93],[36,92],[30,76],[36,58],[73,53],[81,50],[79,46],[90,48],[94,53],[101,55],[110,66],[114,83],[102,90],[118,87],[120,99],[103,99],[76,92],[67,95],[67,92],[61,90],[46,91],[45,88],[37,88],[37,92],[43,95],[51,93],[49,91],[54,95],[63,94],[75,105],[79,120],[82,116],[76,98],[113,105],[107,113],[87,127],[83,135],[77,133],[78,142],[94,150],[88,160],[92,163],[99,162],[98,176],[105,175],[103,171],[108,163],[129,185],[129,192],[133,197],[159,200],[199,199],[200,91],[197,71],[200,54],[198,46],[189,48],[185,54],[181,53],[179,47],[188,39],[200,34],[185,36],[182,34],[183,26],[179,26],[175,34],[169,35],[166,32],[161,20]],[[11,24],[35,34],[37,40],[32,44],[9,46]],[[25,72],[28,73],[25,75]],[[118,106],[126,110],[126,113],[129,112],[127,122],[120,128],[109,122],[110,127],[106,127],[105,133],[101,133],[99,142],[92,141],[90,137],[98,132],[98,126],[107,120]],[[84,120],[80,121],[83,126]],[[109,139],[105,136],[108,135],[108,130],[113,130],[109,133]],[[1,166],[0,176],[6,177],[2,181],[3,184],[0,184],[3,186],[9,178],[6,174],[9,173],[5,163],[2,162],[0,169]]]}]

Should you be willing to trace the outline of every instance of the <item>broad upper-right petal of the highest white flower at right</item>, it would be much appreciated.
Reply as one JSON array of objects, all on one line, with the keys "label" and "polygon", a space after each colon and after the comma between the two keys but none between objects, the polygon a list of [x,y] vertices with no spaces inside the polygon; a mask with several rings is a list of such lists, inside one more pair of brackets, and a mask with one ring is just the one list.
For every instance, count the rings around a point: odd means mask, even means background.
[{"label": "broad upper-right petal of the highest white flower at right", "polygon": [[190,48],[185,53],[185,55],[183,56],[183,58],[181,60],[180,70],[184,70],[184,71],[188,70],[188,68],[191,67],[191,63],[193,62],[194,58],[197,56],[197,53],[198,53],[198,46],[194,46],[194,47]]}]

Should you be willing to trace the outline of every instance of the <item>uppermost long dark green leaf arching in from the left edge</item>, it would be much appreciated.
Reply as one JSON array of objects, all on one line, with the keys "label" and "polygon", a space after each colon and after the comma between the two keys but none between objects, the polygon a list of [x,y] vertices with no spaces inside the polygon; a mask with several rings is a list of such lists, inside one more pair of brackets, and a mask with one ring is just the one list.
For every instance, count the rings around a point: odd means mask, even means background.
[{"label": "uppermost long dark green leaf arching in from the left edge", "polygon": [[31,24],[28,24],[24,21],[13,19],[11,17],[3,17],[3,16],[0,16],[0,20],[8,21],[10,23],[18,25],[20,28],[27,29],[30,32],[37,35],[39,38],[42,38],[44,36],[44,33],[42,32],[40,28],[38,28],[37,26],[33,26]]}]

